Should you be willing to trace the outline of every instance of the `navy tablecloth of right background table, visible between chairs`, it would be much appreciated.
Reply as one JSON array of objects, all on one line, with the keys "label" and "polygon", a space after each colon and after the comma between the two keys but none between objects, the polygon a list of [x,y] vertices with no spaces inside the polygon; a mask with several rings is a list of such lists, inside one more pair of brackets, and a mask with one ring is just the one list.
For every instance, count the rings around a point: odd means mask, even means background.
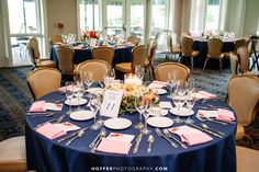
[{"label": "navy tablecloth of right background table, visible between chairs", "polygon": [[[234,42],[223,42],[222,53],[233,51],[235,48]],[[206,60],[207,55],[207,42],[205,41],[194,41],[193,49],[199,51],[199,57],[195,57],[193,60],[193,66],[198,68],[203,68],[203,65]],[[190,65],[190,58],[183,57],[183,62]],[[229,60],[223,60],[223,68],[227,68],[229,66]],[[207,69],[219,69],[219,60],[211,59],[207,61]]]}]

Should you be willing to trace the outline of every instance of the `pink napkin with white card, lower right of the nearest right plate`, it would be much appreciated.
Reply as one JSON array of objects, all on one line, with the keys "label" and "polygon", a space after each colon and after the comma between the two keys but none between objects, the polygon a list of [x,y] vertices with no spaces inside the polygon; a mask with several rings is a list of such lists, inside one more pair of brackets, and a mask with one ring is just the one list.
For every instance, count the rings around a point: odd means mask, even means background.
[{"label": "pink napkin with white card, lower right of the nearest right plate", "polygon": [[213,140],[212,137],[204,134],[203,131],[189,127],[189,126],[180,126],[173,127],[169,129],[171,133],[177,134],[182,142],[187,142],[189,146],[204,144]]}]

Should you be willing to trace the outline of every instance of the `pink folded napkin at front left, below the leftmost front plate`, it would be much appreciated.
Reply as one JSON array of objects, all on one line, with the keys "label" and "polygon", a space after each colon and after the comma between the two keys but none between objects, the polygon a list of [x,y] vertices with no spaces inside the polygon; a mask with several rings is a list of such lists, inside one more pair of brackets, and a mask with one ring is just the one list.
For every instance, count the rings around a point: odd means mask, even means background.
[{"label": "pink folded napkin at front left, below the leftmost front plate", "polygon": [[60,129],[52,123],[47,123],[41,126],[36,129],[36,131],[50,140],[67,134],[65,130]]}]

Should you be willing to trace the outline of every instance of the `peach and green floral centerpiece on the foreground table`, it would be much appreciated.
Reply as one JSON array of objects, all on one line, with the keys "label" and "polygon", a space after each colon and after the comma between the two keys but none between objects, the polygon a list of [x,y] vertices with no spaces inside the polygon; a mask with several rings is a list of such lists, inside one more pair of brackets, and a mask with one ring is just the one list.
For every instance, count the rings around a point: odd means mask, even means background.
[{"label": "peach and green floral centerpiece on the foreground table", "polygon": [[121,107],[119,113],[134,113],[135,110],[135,98],[138,95],[146,95],[146,101],[156,104],[159,100],[159,96],[155,94],[155,92],[144,85],[134,85],[128,87],[123,83],[112,83],[106,85],[105,89],[114,90],[114,91],[123,91],[123,99],[121,103]]}]

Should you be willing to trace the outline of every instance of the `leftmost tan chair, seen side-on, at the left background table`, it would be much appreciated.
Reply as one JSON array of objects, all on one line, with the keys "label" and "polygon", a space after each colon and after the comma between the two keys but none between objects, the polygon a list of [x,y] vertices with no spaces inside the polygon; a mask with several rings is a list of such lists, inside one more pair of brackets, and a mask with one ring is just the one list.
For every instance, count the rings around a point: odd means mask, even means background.
[{"label": "leftmost tan chair, seen side-on, at the left background table", "polygon": [[38,42],[36,37],[32,37],[27,44],[29,55],[32,64],[35,68],[37,67],[50,67],[56,68],[56,62],[50,59],[42,59],[38,50]]}]

